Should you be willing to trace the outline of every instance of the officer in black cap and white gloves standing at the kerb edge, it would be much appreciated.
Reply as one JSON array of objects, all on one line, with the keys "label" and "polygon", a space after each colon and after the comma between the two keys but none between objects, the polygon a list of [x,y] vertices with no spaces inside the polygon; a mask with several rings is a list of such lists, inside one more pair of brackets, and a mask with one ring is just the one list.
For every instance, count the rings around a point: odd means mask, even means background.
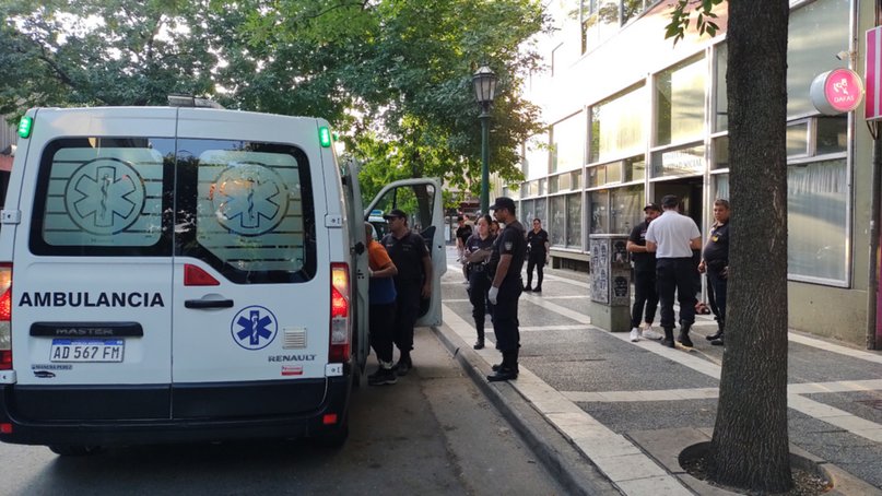
[{"label": "officer in black cap and white gloves standing at the kerb edge", "polygon": [[493,374],[487,376],[487,380],[494,382],[518,378],[518,298],[524,290],[520,270],[527,255],[527,239],[524,226],[515,216],[515,202],[510,198],[497,198],[490,210],[494,211],[499,223],[505,224],[493,241],[489,262],[493,282],[487,299],[495,305],[493,332],[496,334],[496,350],[503,354],[503,363],[494,365]]}]

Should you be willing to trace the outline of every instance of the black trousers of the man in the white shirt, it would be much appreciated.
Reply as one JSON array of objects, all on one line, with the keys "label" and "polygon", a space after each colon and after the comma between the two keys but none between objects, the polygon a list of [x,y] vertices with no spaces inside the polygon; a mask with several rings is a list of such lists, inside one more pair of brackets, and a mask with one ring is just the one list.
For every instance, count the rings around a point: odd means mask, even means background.
[{"label": "black trousers of the man in the white shirt", "polygon": [[695,323],[695,264],[692,257],[659,258],[656,260],[656,285],[661,304],[661,327],[675,327],[673,298],[677,292],[680,302],[680,323]]}]

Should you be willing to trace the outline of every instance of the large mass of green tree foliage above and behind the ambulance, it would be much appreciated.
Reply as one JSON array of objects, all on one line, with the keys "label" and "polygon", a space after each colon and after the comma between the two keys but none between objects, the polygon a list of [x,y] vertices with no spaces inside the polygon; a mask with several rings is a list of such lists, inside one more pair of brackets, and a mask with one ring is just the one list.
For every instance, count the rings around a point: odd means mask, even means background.
[{"label": "large mass of green tree foliage above and behind the ambulance", "polygon": [[0,0],[0,113],[33,106],[164,105],[169,93],[228,108],[325,117],[371,185],[443,177],[480,188],[471,76],[499,76],[491,170],[521,178],[542,131],[520,96],[545,25],[538,0]]}]

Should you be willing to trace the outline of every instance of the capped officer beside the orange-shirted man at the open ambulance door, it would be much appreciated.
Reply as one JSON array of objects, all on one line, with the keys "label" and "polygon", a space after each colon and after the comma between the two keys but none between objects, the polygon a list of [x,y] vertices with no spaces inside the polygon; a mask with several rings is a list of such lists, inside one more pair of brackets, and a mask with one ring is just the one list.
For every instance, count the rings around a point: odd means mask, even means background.
[{"label": "capped officer beside the orange-shirted man at the open ambulance door", "polygon": [[395,276],[395,344],[399,358],[393,368],[399,376],[405,376],[413,368],[410,352],[413,350],[413,324],[420,312],[420,298],[432,295],[432,259],[423,237],[411,233],[408,227],[407,213],[392,209],[384,219],[389,223],[389,234],[383,238],[383,246],[398,268]]}]

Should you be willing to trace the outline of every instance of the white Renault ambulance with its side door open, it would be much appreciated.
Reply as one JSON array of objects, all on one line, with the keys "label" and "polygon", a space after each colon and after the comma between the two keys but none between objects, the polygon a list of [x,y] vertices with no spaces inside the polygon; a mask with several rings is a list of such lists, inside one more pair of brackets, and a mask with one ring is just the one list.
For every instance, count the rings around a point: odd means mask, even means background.
[{"label": "white Renault ambulance with its side door open", "polygon": [[[0,440],[60,454],[309,436],[342,444],[367,342],[365,211],[322,119],[27,111],[0,214]],[[386,187],[431,248],[437,181]]]}]

